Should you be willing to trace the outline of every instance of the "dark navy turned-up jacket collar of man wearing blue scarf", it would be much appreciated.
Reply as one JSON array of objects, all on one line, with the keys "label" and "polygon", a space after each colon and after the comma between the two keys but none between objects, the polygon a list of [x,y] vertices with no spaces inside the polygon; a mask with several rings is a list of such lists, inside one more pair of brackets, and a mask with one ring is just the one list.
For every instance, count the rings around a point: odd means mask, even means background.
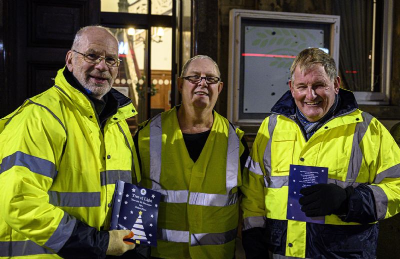
[{"label": "dark navy turned-up jacket collar of man wearing blue scarf", "polygon": [[[358,109],[357,101],[355,100],[354,94],[351,91],[339,88],[339,102],[333,117],[338,117],[343,114],[350,113]],[[293,117],[296,113],[296,104],[294,98],[291,96],[290,90],[287,90],[282,97],[273,105],[271,109],[272,113],[284,115],[286,117]]]}]

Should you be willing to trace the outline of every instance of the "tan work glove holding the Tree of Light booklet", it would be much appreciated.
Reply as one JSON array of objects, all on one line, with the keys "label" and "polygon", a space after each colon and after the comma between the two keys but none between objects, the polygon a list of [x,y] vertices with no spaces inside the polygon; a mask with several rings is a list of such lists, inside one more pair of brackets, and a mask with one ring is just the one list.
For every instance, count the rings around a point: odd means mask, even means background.
[{"label": "tan work glove holding the Tree of Light booklet", "polygon": [[124,241],[133,237],[130,230],[110,230],[108,248],[105,252],[107,256],[121,256],[128,250],[134,249],[135,245],[132,242]]}]

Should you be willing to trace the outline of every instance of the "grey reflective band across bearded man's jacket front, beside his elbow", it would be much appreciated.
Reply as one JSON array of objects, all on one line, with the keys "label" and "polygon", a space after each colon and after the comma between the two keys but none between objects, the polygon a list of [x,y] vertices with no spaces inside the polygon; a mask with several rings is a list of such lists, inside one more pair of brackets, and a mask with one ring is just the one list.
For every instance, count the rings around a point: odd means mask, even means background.
[{"label": "grey reflective band across bearded man's jacket front, beside his elbow", "polygon": [[67,193],[48,191],[49,203],[59,207],[98,207],[100,192]]}]

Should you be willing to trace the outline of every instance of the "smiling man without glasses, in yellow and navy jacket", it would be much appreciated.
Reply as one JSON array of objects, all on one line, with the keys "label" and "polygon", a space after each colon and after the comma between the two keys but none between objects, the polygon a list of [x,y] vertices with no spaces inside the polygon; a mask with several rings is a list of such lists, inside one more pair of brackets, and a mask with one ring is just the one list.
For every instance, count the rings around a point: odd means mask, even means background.
[{"label": "smiling man without glasses, in yellow and navy jacket", "polygon": [[[354,95],[339,88],[328,54],[304,49],[290,76],[243,172],[246,258],[374,259],[376,221],[400,211],[400,150],[379,121],[358,109]],[[328,168],[327,182],[297,182],[300,195],[289,194],[296,186],[289,175],[300,174],[290,172],[296,166],[311,168],[308,176]],[[301,206],[295,217],[304,213],[306,220],[287,216],[288,195],[295,194]]]}]

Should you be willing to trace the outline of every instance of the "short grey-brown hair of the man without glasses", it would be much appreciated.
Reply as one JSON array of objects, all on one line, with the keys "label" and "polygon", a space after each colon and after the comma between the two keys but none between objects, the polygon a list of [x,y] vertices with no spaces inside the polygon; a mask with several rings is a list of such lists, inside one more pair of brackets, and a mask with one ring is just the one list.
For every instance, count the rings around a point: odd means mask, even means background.
[{"label": "short grey-brown hair of the man without glasses", "polygon": [[322,65],[330,81],[334,81],[337,76],[334,59],[319,48],[306,48],[298,53],[290,67],[291,81],[294,81],[296,66],[300,71],[307,71],[315,65]]}]

